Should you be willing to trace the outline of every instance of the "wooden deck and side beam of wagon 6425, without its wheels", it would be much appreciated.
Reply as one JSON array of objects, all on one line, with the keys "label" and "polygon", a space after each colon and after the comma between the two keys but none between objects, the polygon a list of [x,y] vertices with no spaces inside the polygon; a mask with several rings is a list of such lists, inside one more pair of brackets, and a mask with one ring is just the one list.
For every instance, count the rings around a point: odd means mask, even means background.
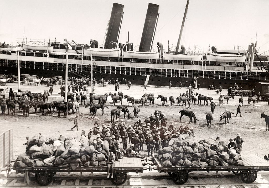
[{"label": "wooden deck and side beam of wagon 6425, without its wheels", "polygon": [[190,167],[186,167],[186,166],[171,166],[171,167],[167,167],[167,166],[162,166],[160,161],[157,159],[157,156],[154,155],[154,161],[156,163],[156,170],[158,170],[159,172],[173,172],[173,171],[184,171],[184,170],[188,170],[188,171],[240,171],[243,169],[249,169],[249,168],[253,168],[257,171],[260,170],[265,170],[265,171],[269,171],[269,162],[267,160],[265,160],[264,158],[261,158],[259,155],[256,154],[242,154],[241,155],[243,162],[244,162],[244,166],[206,166],[205,168],[201,168],[201,167],[194,167],[194,166],[190,166]]}]

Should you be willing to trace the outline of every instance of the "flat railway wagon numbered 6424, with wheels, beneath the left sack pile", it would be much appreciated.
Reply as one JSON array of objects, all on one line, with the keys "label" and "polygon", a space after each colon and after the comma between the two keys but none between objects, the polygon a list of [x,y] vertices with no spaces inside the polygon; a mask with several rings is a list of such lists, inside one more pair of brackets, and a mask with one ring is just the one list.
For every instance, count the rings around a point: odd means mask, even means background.
[{"label": "flat railway wagon numbered 6424, with wheels, beneath the left sack pile", "polygon": [[[127,180],[127,172],[143,173],[147,168],[142,165],[140,158],[123,158],[119,162],[115,162],[114,175],[110,180],[115,185],[122,185]],[[59,172],[107,172],[107,166],[79,166],[75,170],[69,167],[26,167],[14,169],[17,173],[25,173],[27,176],[30,172],[35,174],[36,182],[41,186],[49,185],[52,182],[53,176]]]}]

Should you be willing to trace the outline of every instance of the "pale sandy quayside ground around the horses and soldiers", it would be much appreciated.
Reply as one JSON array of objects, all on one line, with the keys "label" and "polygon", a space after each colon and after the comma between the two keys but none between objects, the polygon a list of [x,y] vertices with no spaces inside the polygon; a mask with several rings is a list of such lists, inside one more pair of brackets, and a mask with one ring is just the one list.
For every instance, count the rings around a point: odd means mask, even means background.
[{"label": "pale sandy quayside ground around the horses and soldiers", "polygon": [[[0,86],[0,88],[12,87],[13,91],[16,91],[18,86],[12,83],[8,83],[7,86]],[[62,101],[63,98],[59,93],[60,86],[54,86],[54,93],[49,97],[48,101],[58,100]],[[46,86],[25,86],[21,87],[22,90],[30,90],[32,93],[40,92],[43,93],[44,90],[48,90]],[[89,89],[90,90],[90,89]],[[110,85],[108,87],[97,87],[95,86],[95,93],[97,94],[104,94],[104,93],[116,93],[115,87]],[[141,98],[144,93],[154,93],[155,95],[155,104],[154,106],[144,106],[140,107],[139,118],[144,120],[146,116],[154,113],[155,109],[161,110],[168,118],[168,123],[174,123],[176,127],[181,125],[179,122],[180,114],[178,113],[181,109],[186,109],[185,106],[178,107],[175,103],[173,106],[169,106],[169,96],[174,96],[176,98],[179,96],[180,93],[185,92],[187,88],[154,88],[154,87],[147,87],[147,91],[143,91],[143,87],[141,86],[132,86],[131,90],[127,90],[127,85],[121,85],[120,91],[122,93],[132,96],[134,98]],[[196,90],[197,92],[197,90]],[[200,121],[197,121],[197,124],[194,125],[189,122],[189,118],[186,116],[182,117],[182,123],[186,124],[187,126],[193,126],[195,132],[195,139],[201,140],[204,138],[208,138],[212,136],[213,138],[220,136],[223,139],[235,138],[237,133],[242,135],[245,144],[243,145],[242,153],[255,153],[260,156],[267,155],[269,150],[268,146],[268,137],[267,135],[269,132],[266,132],[266,124],[264,119],[261,119],[261,112],[265,114],[268,113],[268,105],[267,102],[259,102],[256,103],[255,106],[247,106],[247,98],[244,98],[243,107],[241,108],[242,117],[232,115],[230,119],[230,124],[223,126],[223,122],[220,122],[220,115],[228,109],[229,111],[235,112],[237,109],[237,105],[239,104],[238,98],[235,97],[233,100],[232,98],[229,100],[228,105],[226,105],[226,101],[224,101],[223,106],[218,106],[218,97],[219,95],[215,94],[213,90],[208,89],[200,89],[199,93],[207,96],[211,96],[214,98],[214,101],[217,105],[215,109],[215,114],[213,114],[213,120],[211,123],[211,128],[208,128],[206,125],[206,114],[210,112],[210,106],[203,105],[192,105],[191,110],[195,113],[196,118]],[[223,94],[227,94],[227,90],[223,90]],[[158,95],[164,95],[168,97],[168,103],[166,106],[161,106],[161,100],[157,99]],[[8,96],[6,96],[8,97]],[[89,97],[88,97],[89,98]],[[89,99],[88,99],[89,101]],[[95,101],[97,102],[97,101]],[[120,103],[117,103],[120,104]],[[123,100],[123,105],[127,105],[127,101]],[[210,104],[210,102],[208,103]],[[116,106],[113,106],[113,102],[111,97],[108,97],[107,105],[109,109],[105,108],[104,116],[102,116],[101,109],[97,110],[97,118],[100,118],[100,125],[105,123],[110,123],[110,111],[115,109]],[[141,104],[136,104],[141,105]],[[134,124],[137,121],[133,120],[133,107],[128,107],[131,113],[131,119],[125,118],[125,123],[127,125]],[[0,126],[1,132],[4,132],[8,129],[13,129],[13,151],[14,151],[14,158],[17,155],[22,154],[25,151],[25,145],[23,143],[26,142],[25,137],[29,136],[32,137],[37,133],[42,133],[43,135],[49,137],[55,132],[60,132],[64,136],[80,136],[81,130],[85,129],[86,133],[88,133],[89,128],[93,127],[93,123],[95,119],[91,119],[89,115],[89,109],[85,108],[84,105],[80,105],[79,108],[79,132],[71,131],[71,127],[73,126],[73,121],[75,118],[75,114],[69,114],[67,118],[60,118],[57,117],[57,113],[50,116],[48,113],[45,115],[41,115],[41,113],[34,113],[34,109],[30,109],[30,116],[25,117],[22,116],[22,112],[18,112],[18,107],[16,107],[15,116],[10,115],[0,115]],[[121,116],[123,118],[123,116]],[[122,146],[120,146],[122,147]],[[146,146],[144,146],[144,152],[146,154]]]}]

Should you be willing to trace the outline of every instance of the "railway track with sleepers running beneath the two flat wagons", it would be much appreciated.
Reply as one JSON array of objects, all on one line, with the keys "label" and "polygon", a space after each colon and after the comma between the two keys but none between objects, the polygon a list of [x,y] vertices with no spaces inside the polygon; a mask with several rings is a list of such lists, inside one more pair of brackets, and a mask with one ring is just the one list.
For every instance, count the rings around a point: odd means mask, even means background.
[{"label": "railway track with sleepers running beneath the two flat wagons", "polygon": [[[266,175],[267,176],[267,175]],[[212,178],[215,177],[215,178]],[[159,175],[159,176],[128,176],[127,181],[117,187],[122,188],[174,188],[174,187],[189,187],[189,188],[268,188],[269,181],[263,179],[261,175],[257,178],[256,182],[251,184],[241,183],[240,176],[236,175],[221,175],[216,178],[212,175],[190,175],[189,180],[184,185],[175,185],[171,176]],[[9,177],[0,178],[0,186],[2,187],[43,187],[43,188],[112,188],[116,187],[111,183],[109,179],[106,179],[106,174],[98,176],[62,176],[55,175],[53,181],[47,186],[39,186],[34,180],[34,176],[30,176],[30,182],[25,183],[24,177]],[[268,178],[266,178],[268,179]]]}]

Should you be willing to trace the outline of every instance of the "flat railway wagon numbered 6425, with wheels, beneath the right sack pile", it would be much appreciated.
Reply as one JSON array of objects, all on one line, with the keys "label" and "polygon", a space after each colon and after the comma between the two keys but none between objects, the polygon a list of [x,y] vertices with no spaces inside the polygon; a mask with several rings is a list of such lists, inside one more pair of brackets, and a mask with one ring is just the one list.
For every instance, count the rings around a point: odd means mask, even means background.
[{"label": "flat railway wagon numbered 6425, with wheels, beneath the right sack pile", "polygon": [[200,166],[166,167],[161,165],[157,155],[153,155],[152,160],[156,165],[156,167],[153,168],[154,170],[157,170],[160,173],[168,173],[170,176],[172,176],[173,182],[178,185],[186,183],[189,178],[189,172],[194,171],[216,171],[217,173],[218,171],[233,172],[234,174],[240,175],[241,180],[245,183],[253,183],[257,178],[257,172],[269,171],[269,162],[264,158],[261,158],[256,154],[242,154],[241,157],[245,166],[206,166],[205,168],[201,168]]}]

